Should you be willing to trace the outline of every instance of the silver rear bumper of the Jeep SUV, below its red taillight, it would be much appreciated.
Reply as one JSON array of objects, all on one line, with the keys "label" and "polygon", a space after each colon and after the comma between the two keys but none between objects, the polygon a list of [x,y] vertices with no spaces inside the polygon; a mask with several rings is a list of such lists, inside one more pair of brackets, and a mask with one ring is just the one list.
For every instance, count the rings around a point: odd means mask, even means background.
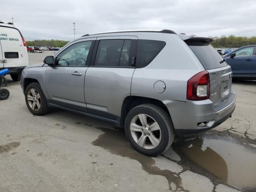
[{"label": "silver rear bumper of the Jeep SUV, below its red taillight", "polygon": [[[234,90],[234,89],[232,89]],[[214,108],[212,101],[186,102],[164,100],[168,108],[177,135],[194,134],[212,129],[231,117],[236,107],[236,95],[230,96],[218,107]]]}]

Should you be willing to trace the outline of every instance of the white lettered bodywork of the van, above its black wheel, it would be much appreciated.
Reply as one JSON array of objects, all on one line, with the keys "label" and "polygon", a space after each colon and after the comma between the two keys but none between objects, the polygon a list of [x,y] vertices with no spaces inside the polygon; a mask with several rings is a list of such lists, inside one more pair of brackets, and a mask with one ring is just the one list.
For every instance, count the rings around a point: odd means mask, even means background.
[{"label": "white lettered bodywork of the van, above its black wheel", "polygon": [[0,26],[0,34],[4,67],[27,66],[26,46],[20,32],[16,28]]}]

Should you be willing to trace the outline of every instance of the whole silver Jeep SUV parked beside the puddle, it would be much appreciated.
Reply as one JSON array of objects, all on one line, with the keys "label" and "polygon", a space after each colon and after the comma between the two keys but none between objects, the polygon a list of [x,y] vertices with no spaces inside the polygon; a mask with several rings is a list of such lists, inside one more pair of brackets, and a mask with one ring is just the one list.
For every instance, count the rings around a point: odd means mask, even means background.
[{"label": "whole silver Jeep SUV parked beside the puddle", "polygon": [[33,114],[57,107],[113,122],[157,156],[175,134],[214,128],[235,109],[231,68],[210,42],[171,30],[86,34],[26,67],[21,87]]}]

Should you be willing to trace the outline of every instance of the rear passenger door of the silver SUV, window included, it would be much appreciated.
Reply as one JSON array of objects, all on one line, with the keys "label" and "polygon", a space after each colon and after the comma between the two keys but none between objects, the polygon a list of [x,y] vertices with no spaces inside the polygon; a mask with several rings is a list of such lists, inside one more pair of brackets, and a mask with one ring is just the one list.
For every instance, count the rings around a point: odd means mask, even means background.
[{"label": "rear passenger door of the silver SUV, window included", "polygon": [[91,114],[120,122],[124,98],[130,96],[136,36],[98,37],[85,76],[85,100]]}]

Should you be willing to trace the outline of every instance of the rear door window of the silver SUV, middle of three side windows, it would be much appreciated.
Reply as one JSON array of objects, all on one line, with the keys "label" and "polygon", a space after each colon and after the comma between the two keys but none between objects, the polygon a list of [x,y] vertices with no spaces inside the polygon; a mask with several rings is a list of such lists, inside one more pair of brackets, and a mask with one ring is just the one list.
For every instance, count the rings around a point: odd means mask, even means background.
[{"label": "rear door window of the silver SUV, middle of three side windows", "polygon": [[132,40],[100,40],[94,66],[129,66]]}]

